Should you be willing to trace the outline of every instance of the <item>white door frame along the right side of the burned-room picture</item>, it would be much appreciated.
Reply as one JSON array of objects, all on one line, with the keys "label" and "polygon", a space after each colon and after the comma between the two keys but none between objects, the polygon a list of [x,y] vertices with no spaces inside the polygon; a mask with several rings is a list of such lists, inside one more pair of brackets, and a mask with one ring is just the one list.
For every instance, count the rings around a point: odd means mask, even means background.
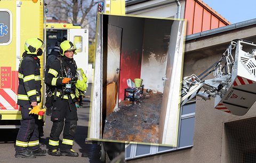
[{"label": "white door frame along the right side of the burned-room picture", "polygon": [[167,53],[166,74],[163,78],[165,81],[159,121],[159,144],[177,146],[184,34],[184,22],[174,21]]}]

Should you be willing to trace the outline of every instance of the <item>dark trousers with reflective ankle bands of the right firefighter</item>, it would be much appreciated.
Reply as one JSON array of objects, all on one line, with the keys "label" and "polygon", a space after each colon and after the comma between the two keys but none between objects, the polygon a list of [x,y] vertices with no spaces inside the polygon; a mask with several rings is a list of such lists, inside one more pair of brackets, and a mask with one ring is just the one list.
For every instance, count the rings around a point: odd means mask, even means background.
[{"label": "dark trousers with reflective ankle bands of the right firefighter", "polygon": [[[77,126],[77,109],[75,103],[60,99],[53,101],[51,121],[52,129],[49,138],[49,149],[67,150],[72,149]],[[64,129],[63,129],[64,128]],[[62,144],[59,137],[63,129]]]}]

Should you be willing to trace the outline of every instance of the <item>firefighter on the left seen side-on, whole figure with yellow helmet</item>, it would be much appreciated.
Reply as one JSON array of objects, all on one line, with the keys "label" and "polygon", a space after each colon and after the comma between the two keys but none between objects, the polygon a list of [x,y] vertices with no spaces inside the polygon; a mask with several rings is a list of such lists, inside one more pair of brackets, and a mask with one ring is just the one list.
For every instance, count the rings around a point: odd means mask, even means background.
[{"label": "firefighter on the left seen side-on, whole figure with yellow helmet", "polygon": [[32,107],[41,102],[40,60],[44,42],[39,38],[29,38],[25,43],[25,52],[19,65],[18,104],[22,119],[15,143],[15,157],[36,158],[43,156],[46,150],[39,148],[38,115],[29,114]]}]

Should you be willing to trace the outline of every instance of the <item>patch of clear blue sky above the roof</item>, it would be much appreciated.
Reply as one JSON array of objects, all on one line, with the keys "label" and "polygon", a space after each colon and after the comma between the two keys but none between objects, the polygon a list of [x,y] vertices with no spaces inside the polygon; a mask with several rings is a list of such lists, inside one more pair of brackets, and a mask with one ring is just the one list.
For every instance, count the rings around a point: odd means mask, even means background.
[{"label": "patch of clear blue sky above the roof", "polygon": [[256,0],[202,0],[231,24],[256,18]]}]

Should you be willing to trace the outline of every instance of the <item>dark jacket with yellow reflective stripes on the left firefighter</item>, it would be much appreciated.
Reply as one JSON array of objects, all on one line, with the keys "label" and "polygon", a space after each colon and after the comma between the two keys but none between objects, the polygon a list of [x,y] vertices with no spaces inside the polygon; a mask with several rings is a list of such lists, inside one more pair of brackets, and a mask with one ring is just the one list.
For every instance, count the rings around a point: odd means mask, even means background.
[{"label": "dark jacket with yellow reflective stripes on the left firefighter", "polygon": [[36,55],[23,53],[18,78],[18,104],[41,102],[40,60]]}]

